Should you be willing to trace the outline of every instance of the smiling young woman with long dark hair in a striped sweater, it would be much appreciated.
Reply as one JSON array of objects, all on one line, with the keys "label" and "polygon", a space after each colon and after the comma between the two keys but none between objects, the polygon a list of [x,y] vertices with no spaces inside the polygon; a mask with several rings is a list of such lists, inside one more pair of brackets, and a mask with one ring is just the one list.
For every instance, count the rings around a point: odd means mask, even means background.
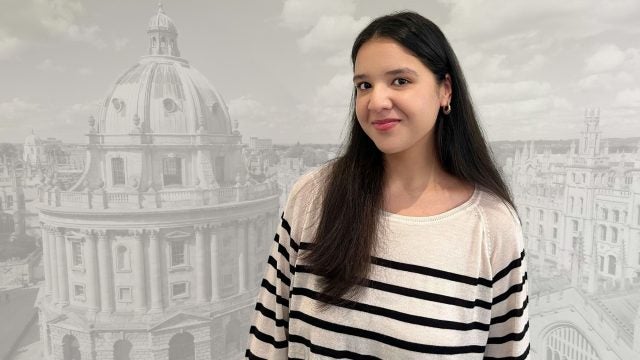
[{"label": "smiling young woman with long dark hair in a striped sweater", "polygon": [[526,359],[509,191],[440,29],[403,12],[355,40],[346,149],[291,190],[250,359]]}]

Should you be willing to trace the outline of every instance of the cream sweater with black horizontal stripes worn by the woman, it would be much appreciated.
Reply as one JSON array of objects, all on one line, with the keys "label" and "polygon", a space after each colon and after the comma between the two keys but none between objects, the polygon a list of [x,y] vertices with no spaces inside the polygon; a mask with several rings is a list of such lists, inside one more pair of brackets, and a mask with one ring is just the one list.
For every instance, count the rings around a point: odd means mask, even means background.
[{"label": "cream sweater with black horizontal stripes worn by the woman", "polygon": [[528,284],[520,223],[476,187],[435,216],[382,211],[370,283],[346,306],[317,308],[309,249],[326,167],[293,186],[266,266],[249,359],[527,359]]}]

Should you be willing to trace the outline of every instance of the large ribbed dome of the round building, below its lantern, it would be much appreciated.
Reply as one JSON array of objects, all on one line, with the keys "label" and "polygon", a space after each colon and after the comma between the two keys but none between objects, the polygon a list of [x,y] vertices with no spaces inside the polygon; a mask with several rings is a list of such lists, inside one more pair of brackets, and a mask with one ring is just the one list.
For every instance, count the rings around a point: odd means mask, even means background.
[{"label": "large ribbed dome of the round building, below its lantern", "polygon": [[183,59],[146,56],[116,81],[100,105],[98,132],[231,134],[220,94]]}]

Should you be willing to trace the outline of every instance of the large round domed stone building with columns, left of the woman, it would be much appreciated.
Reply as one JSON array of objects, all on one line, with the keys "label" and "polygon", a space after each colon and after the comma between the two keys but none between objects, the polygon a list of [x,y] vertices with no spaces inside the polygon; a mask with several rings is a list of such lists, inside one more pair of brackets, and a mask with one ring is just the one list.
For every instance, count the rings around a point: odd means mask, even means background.
[{"label": "large round domed stone building with columns, left of the woman", "polygon": [[79,181],[39,189],[48,359],[244,354],[280,191],[249,180],[237,125],[162,6],[147,33],[89,119]]}]

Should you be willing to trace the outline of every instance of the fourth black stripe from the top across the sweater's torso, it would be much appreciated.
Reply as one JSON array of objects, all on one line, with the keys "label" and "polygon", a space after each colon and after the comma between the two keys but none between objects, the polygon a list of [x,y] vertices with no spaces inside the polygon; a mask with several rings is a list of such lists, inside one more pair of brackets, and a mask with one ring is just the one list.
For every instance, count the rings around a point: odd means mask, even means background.
[{"label": "fourth black stripe from the top across the sweater's torso", "polygon": [[315,326],[324,330],[357,336],[365,339],[374,340],[383,344],[391,345],[400,349],[415,351],[428,354],[468,354],[468,353],[482,353],[485,347],[481,345],[465,345],[465,346],[437,346],[418,344],[406,340],[394,338],[389,335],[380,334],[375,331],[354,328],[351,326],[345,326],[340,324],[331,323],[325,320],[315,318],[300,311],[291,311],[289,313],[290,318],[299,319],[311,326]]}]

